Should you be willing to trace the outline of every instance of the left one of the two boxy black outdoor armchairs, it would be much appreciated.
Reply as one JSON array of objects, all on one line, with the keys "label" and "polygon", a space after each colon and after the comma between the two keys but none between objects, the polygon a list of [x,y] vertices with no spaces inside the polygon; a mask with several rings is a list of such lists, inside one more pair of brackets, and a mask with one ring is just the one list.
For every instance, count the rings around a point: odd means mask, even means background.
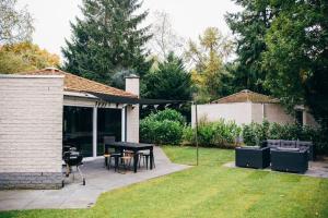
[{"label": "left one of the two boxy black outdoor armchairs", "polygon": [[270,166],[269,147],[237,147],[235,156],[237,167],[263,169]]}]

